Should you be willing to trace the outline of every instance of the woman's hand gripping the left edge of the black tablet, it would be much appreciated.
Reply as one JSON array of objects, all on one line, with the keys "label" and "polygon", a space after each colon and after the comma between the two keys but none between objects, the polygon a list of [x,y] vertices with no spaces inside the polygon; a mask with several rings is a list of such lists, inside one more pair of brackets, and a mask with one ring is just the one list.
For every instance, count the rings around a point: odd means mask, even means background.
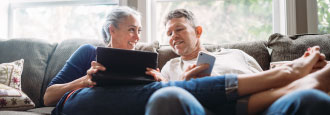
[{"label": "woman's hand gripping the left edge of the black tablet", "polygon": [[91,68],[89,68],[87,70],[87,75],[81,77],[81,86],[82,87],[92,87],[94,85],[96,85],[96,82],[93,82],[92,81],[92,75],[97,73],[98,71],[105,71],[105,67],[100,64],[100,63],[97,63],[96,61],[92,61],[91,63]]}]

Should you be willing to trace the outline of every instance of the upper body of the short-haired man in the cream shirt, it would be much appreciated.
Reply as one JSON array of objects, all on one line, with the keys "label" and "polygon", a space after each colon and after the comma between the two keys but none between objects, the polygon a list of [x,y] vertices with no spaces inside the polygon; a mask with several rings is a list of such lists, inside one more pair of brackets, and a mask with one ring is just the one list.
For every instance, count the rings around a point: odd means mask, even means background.
[{"label": "upper body of the short-haired man in the cream shirt", "polygon": [[[165,19],[165,26],[169,44],[180,57],[168,61],[161,74],[159,70],[150,68],[147,69],[147,74],[154,76],[158,81],[189,80],[191,78],[183,75],[184,71],[196,64],[200,51],[207,52],[201,45],[202,27],[196,25],[193,13],[185,9],[171,11]],[[216,57],[211,76],[262,71],[253,57],[238,49],[221,49],[220,52],[207,53]]]}]

